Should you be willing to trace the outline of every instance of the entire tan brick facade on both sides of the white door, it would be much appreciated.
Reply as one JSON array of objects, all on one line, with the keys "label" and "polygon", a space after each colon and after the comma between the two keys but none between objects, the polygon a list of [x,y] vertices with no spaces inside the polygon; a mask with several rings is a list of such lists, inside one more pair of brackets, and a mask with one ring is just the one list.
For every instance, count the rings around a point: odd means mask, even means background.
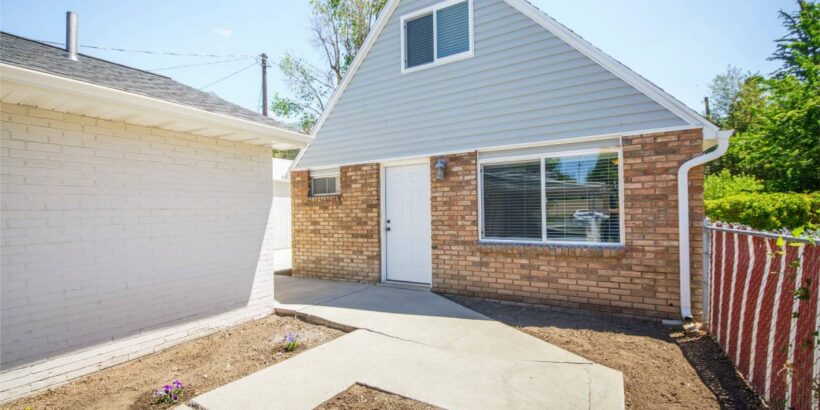
[{"label": "entire tan brick facade on both sides of the white door", "polygon": [[[430,158],[433,290],[644,317],[679,317],[677,170],[702,152],[701,131],[623,138],[625,247],[478,242],[476,153]],[[448,161],[446,177],[433,164]],[[380,278],[379,167],[342,168],[342,194],[309,198],[293,176],[294,274]],[[703,169],[690,172],[692,303],[701,306]],[[355,199],[352,199],[355,198]]]}]

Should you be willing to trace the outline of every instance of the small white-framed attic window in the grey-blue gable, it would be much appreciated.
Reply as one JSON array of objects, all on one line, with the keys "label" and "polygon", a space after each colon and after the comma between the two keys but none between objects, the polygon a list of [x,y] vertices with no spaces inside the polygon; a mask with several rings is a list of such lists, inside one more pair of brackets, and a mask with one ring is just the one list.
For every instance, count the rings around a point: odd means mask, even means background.
[{"label": "small white-framed attic window in the grey-blue gable", "polygon": [[402,16],[402,73],[473,55],[473,2],[450,0]]}]

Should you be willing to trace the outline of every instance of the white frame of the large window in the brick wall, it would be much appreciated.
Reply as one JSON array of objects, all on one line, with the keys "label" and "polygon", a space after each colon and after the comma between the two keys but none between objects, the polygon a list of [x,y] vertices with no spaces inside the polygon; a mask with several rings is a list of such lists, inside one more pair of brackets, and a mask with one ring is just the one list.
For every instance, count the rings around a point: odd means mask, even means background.
[{"label": "white frame of the large window in the brick wall", "polygon": [[[577,155],[618,153],[618,213],[619,213],[619,242],[582,242],[582,241],[556,241],[547,238],[547,200],[546,186],[544,184],[544,162],[547,158],[570,157]],[[515,164],[520,162],[540,161],[541,163],[541,239],[497,239],[484,237],[484,165],[495,164]],[[478,172],[478,238],[485,243],[507,243],[507,244],[542,244],[542,245],[568,245],[568,246],[596,246],[596,247],[620,247],[626,244],[626,230],[624,223],[624,153],[621,147],[613,148],[593,148],[582,150],[567,150],[549,153],[534,153],[526,155],[514,155],[508,157],[487,158],[479,160],[476,164]]]}]

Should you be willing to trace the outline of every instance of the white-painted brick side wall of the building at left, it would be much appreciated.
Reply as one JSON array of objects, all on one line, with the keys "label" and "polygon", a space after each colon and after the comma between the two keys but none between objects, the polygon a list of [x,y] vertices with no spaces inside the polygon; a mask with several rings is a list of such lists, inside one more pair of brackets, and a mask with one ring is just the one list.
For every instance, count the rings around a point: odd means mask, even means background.
[{"label": "white-painted brick side wall of the building at left", "polygon": [[269,148],[0,108],[0,399],[270,311]]}]

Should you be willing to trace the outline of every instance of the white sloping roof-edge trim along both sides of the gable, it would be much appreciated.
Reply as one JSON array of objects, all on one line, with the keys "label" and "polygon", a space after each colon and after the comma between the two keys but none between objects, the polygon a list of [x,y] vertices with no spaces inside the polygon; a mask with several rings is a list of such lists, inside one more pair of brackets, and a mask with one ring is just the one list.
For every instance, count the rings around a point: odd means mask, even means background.
[{"label": "white sloping roof-edge trim along both sides of the gable", "polygon": [[[615,60],[614,58],[602,52],[600,49],[592,46],[589,42],[582,39],[580,36],[572,32],[565,26],[561,25],[551,17],[547,16],[532,4],[528,3],[525,0],[503,1],[515,10],[517,10],[518,12],[520,12],[521,14],[523,14],[524,16],[526,16],[527,18],[529,18],[530,20],[536,22],[538,25],[546,29],[555,37],[564,41],[567,45],[578,51],[580,54],[586,56],[587,58],[601,66],[603,69],[607,70],[608,72],[612,73],[612,75],[622,80],[624,83],[628,84],[640,93],[644,94],[647,98],[657,103],[660,107],[663,107],[664,109],[668,110],[672,115],[680,118],[680,120],[683,123],[688,124],[688,126],[692,128],[703,128],[705,139],[714,139],[717,135],[717,126],[710,123],[697,112],[687,107],[685,104],[678,101],[674,97],[670,96],[668,93],[664,92],[662,89],[652,84],[647,79],[636,74],[635,72],[633,72],[617,60]],[[376,24],[374,25],[373,30],[370,32],[364,44],[362,45],[361,50],[354,58],[350,70],[348,70],[347,74],[342,79],[342,82],[340,83],[339,87],[337,87],[336,91],[331,96],[331,99],[328,102],[326,109],[317,121],[316,126],[313,128],[311,133],[312,136],[315,137],[322,129],[322,127],[325,125],[325,122],[333,112],[341,96],[344,94],[348,85],[356,76],[358,69],[367,58],[371,48],[374,46],[374,44],[376,44],[377,39],[381,35],[384,28],[387,26],[388,21],[391,20],[391,17],[396,11],[399,3],[400,0],[389,0],[388,3],[385,5],[385,8],[379,16]],[[299,158],[297,158],[297,160],[294,162],[294,169],[298,167],[298,162],[305,151],[306,150],[302,150]]]}]

